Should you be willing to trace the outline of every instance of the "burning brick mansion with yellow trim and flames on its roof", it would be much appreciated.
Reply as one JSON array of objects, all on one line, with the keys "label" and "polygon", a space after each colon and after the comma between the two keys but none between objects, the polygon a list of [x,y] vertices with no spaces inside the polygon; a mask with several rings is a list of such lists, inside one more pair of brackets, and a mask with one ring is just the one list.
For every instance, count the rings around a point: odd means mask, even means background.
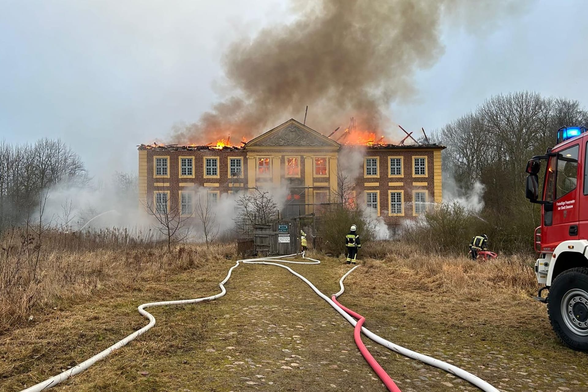
[{"label": "burning brick mansion with yellow trim and flames on its roof", "polygon": [[279,188],[288,189],[286,216],[309,215],[345,198],[397,225],[441,201],[444,148],[386,143],[356,131],[353,120],[348,129],[325,136],[290,119],[239,146],[230,139],[205,146],[139,146],[139,198],[141,205],[172,202],[189,211],[196,189],[206,189],[214,201],[223,193]]}]

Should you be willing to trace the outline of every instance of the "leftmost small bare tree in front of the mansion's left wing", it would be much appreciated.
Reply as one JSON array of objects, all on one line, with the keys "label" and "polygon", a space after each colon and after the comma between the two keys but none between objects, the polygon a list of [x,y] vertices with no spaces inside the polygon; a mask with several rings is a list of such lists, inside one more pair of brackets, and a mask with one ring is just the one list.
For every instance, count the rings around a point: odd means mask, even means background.
[{"label": "leftmost small bare tree in front of the mansion's left wing", "polygon": [[[158,199],[156,199],[158,198]],[[145,211],[156,220],[155,229],[165,237],[168,252],[172,251],[172,244],[184,242],[190,237],[191,230],[186,225],[193,215],[183,214],[178,199],[169,197],[168,192],[159,192],[143,202]]]}]

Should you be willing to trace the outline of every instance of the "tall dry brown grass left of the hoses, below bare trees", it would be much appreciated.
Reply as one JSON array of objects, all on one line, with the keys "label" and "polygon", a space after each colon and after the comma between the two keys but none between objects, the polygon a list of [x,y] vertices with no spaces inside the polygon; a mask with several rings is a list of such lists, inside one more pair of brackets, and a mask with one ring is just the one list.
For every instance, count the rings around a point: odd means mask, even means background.
[{"label": "tall dry brown grass left of the hoses, below bare trees", "polygon": [[163,272],[190,269],[211,257],[232,258],[235,253],[232,246],[220,245],[212,252],[205,252],[203,246],[178,246],[169,253],[151,237],[116,229],[50,231],[41,242],[13,229],[1,244],[0,332],[31,321],[34,310],[112,287],[130,290]]}]

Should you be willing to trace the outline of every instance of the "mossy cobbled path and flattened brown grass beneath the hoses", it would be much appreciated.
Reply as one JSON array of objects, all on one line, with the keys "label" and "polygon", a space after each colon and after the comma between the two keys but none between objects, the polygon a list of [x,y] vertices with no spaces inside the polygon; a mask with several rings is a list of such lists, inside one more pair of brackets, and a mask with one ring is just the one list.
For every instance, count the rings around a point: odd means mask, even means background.
[{"label": "mossy cobbled path and flattened brown grass beneath the hoses", "polygon": [[[193,249],[183,252],[185,259]],[[141,303],[219,292],[234,259],[222,256],[232,249],[215,252],[203,260],[198,249],[201,256],[182,269],[141,274],[132,284],[111,280],[93,296],[61,296],[37,307],[32,321],[0,336],[0,391],[54,376],[141,328]],[[346,280],[340,301],[362,313],[370,330],[503,391],[588,391],[588,357],[556,341],[545,307],[530,298],[536,286],[528,260],[477,264],[393,245],[369,255]],[[322,264],[291,267],[330,295],[349,266],[316,256]],[[226,288],[216,301],[151,308],[153,329],[59,390],[385,391],[360,356],[352,326],[286,270],[242,265]],[[365,343],[405,392],[477,390]]]}]

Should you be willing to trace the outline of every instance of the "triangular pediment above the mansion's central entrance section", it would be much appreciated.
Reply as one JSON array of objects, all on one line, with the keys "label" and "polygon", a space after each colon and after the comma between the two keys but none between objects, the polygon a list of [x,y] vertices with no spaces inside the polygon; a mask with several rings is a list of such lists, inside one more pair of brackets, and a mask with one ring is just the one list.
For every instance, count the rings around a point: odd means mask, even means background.
[{"label": "triangular pediment above the mansion's central entrance section", "polygon": [[263,135],[251,140],[245,145],[246,149],[253,147],[282,147],[282,148],[326,148],[338,149],[339,143],[321,135],[308,126],[289,119],[282,125],[276,126]]}]

